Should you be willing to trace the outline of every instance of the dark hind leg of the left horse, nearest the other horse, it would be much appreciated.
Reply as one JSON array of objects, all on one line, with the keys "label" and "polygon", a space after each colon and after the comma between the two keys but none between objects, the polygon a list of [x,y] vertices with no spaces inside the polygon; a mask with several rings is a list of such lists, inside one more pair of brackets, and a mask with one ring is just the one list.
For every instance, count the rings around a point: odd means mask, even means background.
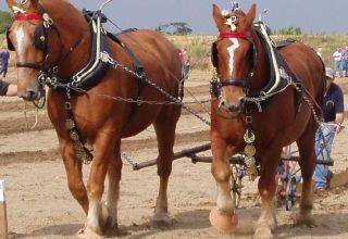
[{"label": "dark hind leg of the left horse, nearest the other horse", "polygon": [[159,194],[156,202],[154,215],[152,222],[156,226],[169,225],[170,217],[167,213],[167,181],[172,173],[172,163],[174,159],[175,140],[175,117],[157,121],[153,126],[158,140],[159,155],[157,158],[158,175],[160,176]]}]

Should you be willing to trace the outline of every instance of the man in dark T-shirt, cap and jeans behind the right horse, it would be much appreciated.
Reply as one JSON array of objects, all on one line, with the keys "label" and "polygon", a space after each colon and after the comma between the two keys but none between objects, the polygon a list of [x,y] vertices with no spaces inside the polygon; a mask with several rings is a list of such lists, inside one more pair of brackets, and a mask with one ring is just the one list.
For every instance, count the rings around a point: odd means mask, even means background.
[{"label": "man in dark T-shirt, cap and jeans behind the right horse", "polygon": [[[341,130],[344,122],[344,95],[338,85],[334,83],[335,75],[332,68],[326,68],[326,89],[321,105],[323,112],[322,123],[315,134],[315,154],[318,160],[330,161],[335,134]],[[315,166],[315,191],[328,187],[328,166]]]}]

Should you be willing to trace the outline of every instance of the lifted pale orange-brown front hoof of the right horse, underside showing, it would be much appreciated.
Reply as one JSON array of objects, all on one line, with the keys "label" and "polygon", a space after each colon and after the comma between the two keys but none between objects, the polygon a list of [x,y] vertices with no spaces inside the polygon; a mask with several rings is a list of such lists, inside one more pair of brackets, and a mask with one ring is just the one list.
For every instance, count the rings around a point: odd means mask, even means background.
[{"label": "lifted pale orange-brown front hoof of the right horse, underside showing", "polygon": [[238,215],[223,215],[217,207],[211,210],[209,219],[211,225],[222,232],[232,232],[238,225]]}]

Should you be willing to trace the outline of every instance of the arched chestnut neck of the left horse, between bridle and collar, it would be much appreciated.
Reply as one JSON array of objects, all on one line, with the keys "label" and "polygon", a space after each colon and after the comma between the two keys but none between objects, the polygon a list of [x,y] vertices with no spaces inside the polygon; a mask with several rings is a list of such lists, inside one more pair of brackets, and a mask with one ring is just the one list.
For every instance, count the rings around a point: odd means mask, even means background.
[{"label": "arched chestnut neck of the left horse, between bridle and collar", "polygon": [[[83,68],[89,60],[91,41],[88,24],[79,10],[69,1],[44,0],[45,11],[53,20],[61,41],[61,58],[75,47],[61,63],[59,75],[70,77]],[[49,46],[50,48],[50,46]]]}]

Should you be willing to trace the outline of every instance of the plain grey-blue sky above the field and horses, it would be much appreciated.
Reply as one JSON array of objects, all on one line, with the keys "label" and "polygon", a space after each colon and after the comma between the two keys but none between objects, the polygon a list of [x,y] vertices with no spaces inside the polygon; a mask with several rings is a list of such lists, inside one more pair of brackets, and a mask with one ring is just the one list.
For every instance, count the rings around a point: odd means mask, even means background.
[{"label": "plain grey-blue sky above the field and horses", "polygon": [[[58,1],[58,0],[57,0]],[[96,10],[104,0],[72,0],[79,9]],[[300,27],[308,34],[348,34],[348,0],[240,0],[247,12],[257,3],[258,15],[266,9],[265,23],[271,29]],[[192,34],[215,35],[212,4],[231,9],[229,0],[113,0],[104,13],[122,29],[154,28],[160,24],[185,22]],[[1,10],[8,10],[4,0]],[[112,30],[112,29],[110,29]],[[114,32],[117,32],[116,29]]]}]

